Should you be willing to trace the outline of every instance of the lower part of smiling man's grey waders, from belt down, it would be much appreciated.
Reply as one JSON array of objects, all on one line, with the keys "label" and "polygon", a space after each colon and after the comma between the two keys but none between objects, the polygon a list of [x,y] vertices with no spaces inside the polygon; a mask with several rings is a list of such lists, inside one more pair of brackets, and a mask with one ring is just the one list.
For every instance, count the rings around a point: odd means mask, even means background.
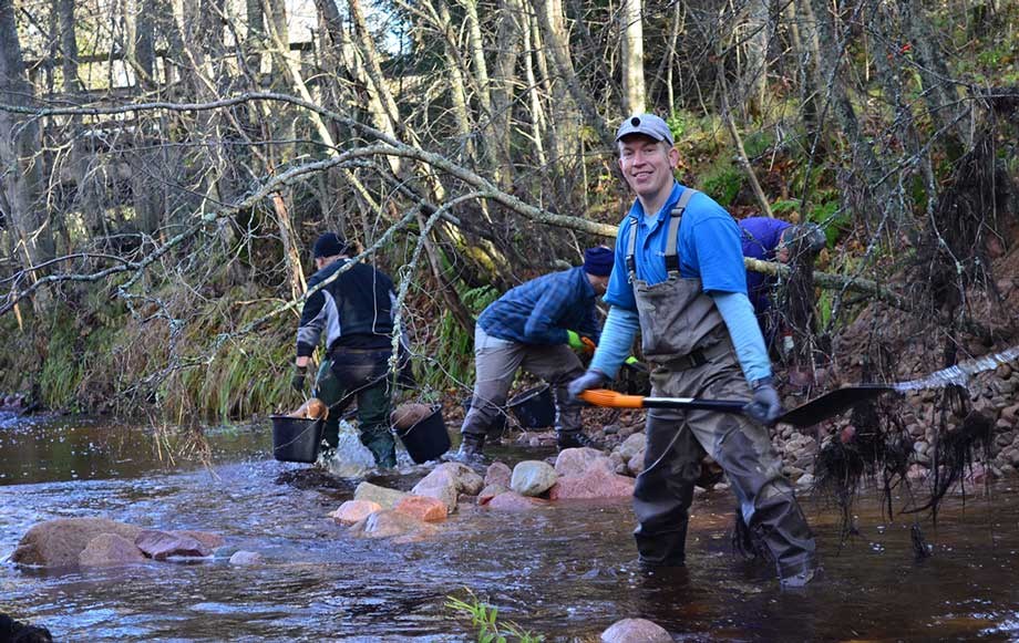
[{"label": "lower part of smiling man's grey waders, from belt down", "polygon": [[[655,396],[750,398],[731,354],[688,371],[659,366],[651,382]],[[648,414],[647,435],[647,468],[634,488],[641,560],[682,562],[693,483],[707,452],[725,470],[743,519],[768,546],[779,574],[791,575],[813,564],[814,537],[764,427],[740,414],[653,409]]]}]

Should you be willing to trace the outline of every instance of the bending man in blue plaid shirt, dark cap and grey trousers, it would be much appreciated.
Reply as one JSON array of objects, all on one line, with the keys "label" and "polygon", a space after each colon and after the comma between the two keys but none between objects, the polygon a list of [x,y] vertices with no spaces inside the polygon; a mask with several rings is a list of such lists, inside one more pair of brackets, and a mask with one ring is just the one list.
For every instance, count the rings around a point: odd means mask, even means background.
[{"label": "bending man in blue plaid shirt, dark cap and grey trousers", "polygon": [[595,302],[613,261],[608,248],[589,248],[584,266],[522,283],[481,313],[474,330],[474,397],[461,428],[459,459],[481,458],[485,434],[521,367],[553,387],[559,448],[593,444],[580,429],[580,408],[569,403],[566,384],[584,373],[570,348],[593,351],[598,343]]}]

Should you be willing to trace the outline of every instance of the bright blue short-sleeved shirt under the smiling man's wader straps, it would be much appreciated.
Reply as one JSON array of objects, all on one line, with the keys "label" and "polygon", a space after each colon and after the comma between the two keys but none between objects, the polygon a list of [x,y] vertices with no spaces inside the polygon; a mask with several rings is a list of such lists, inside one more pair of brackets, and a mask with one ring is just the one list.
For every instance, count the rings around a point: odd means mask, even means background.
[{"label": "bright blue short-sleeved shirt under the smiling man's wader straps", "polygon": [[[629,214],[619,225],[616,262],[605,293],[606,303],[637,310],[626,268],[626,251],[634,232],[631,217],[637,217],[637,246],[634,250],[637,279],[648,283],[660,283],[668,279],[665,253],[669,215],[686,189],[689,188],[673,183],[669,199],[651,219],[650,226],[640,200],[634,201]],[[683,210],[678,239],[676,252],[679,255],[680,277],[700,278],[704,292],[747,292],[740,229],[732,216],[714,199],[703,193],[693,195]]]}]

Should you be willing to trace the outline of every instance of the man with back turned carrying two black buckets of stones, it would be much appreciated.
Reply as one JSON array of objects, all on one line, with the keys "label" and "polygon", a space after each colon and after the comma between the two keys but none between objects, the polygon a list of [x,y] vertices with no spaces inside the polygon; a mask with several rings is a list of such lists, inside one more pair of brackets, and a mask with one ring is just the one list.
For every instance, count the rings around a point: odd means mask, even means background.
[{"label": "man with back turned carrying two black buckets of stones", "polygon": [[329,406],[326,442],[339,443],[340,413],[354,397],[361,443],[380,467],[397,466],[390,432],[392,406],[393,313],[392,280],[366,263],[353,263],[347,241],[327,232],[315,242],[315,267],[308,290],[322,286],[305,302],[297,329],[296,373],[291,384],[305,391],[311,354],[325,334],[326,359],[312,395]]}]

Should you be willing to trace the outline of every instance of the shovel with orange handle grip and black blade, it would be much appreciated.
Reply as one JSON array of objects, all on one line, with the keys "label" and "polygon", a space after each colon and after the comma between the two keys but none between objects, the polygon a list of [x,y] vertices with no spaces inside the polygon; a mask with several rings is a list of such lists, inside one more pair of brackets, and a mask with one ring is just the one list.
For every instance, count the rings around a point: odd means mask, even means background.
[{"label": "shovel with orange handle grip and black blade", "polygon": [[[895,386],[889,384],[844,386],[784,413],[775,422],[791,424],[796,428],[805,428],[817,424],[822,419],[837,415],[861,402],[874,400],[892,391],[895,391]],[[721,413],[743,413],[743,407],[747,406],[747,402],[741,400],[645,397],[642,395],[624,395],[608,388],[590,388],[581,393],[580,398],[595,406],[608,406],[610,408],[692,408]]]}]

